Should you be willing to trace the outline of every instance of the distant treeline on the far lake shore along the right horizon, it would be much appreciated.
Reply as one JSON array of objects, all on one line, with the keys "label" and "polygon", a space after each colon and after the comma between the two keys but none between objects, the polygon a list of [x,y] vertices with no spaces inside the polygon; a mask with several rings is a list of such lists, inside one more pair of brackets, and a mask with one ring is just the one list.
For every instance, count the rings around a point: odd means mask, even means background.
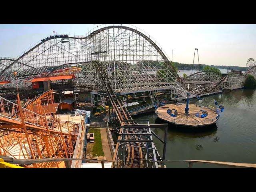
[{"label": "distant treeline on the far lake shore along the right horizon", "polygon": [[[178,68],[179,70],[203,70],[204,67],[209,66],[209,65],[205,65],[205,64],[185,64],[185,63],[178,63],[178,62],[174,62],[174,66],[176,68]],[[239,66],[226,66],[226,65],[210,65],[210,67],[214,67],[214,68],[219,68],[219,69],[228,69],[231,68],[233,70],[238,70],[238,71],[246,71],[248,69],[248,67],[239,67]]]}]

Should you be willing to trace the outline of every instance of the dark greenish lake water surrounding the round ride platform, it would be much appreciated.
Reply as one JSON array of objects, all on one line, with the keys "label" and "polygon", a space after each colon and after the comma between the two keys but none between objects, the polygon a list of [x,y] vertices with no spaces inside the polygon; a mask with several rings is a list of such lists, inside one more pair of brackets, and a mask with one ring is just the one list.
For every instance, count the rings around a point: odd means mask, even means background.
[{"label": "dark greenish lake water surrounding the round ride platform", "polygon": [[[224,91],[196,101],[214,106],[213,99],[225,107],[214,126],[204,131],[175,128],[169,124],[166,160],[213,160],[224,162],[256,163],[256,90],[239,89]],[[134,116],[149,119],[151,124],[166,123],[153,113]],[[164,130],[154,129],[162,139]],[[163,144],[154,137],[154,143],[162,156]],[[200,149],[197,146],[202,146]],[[168,168],[187,167],[187,163],[166,163]],[[223,167],[194,164],[193,167]]]}]

